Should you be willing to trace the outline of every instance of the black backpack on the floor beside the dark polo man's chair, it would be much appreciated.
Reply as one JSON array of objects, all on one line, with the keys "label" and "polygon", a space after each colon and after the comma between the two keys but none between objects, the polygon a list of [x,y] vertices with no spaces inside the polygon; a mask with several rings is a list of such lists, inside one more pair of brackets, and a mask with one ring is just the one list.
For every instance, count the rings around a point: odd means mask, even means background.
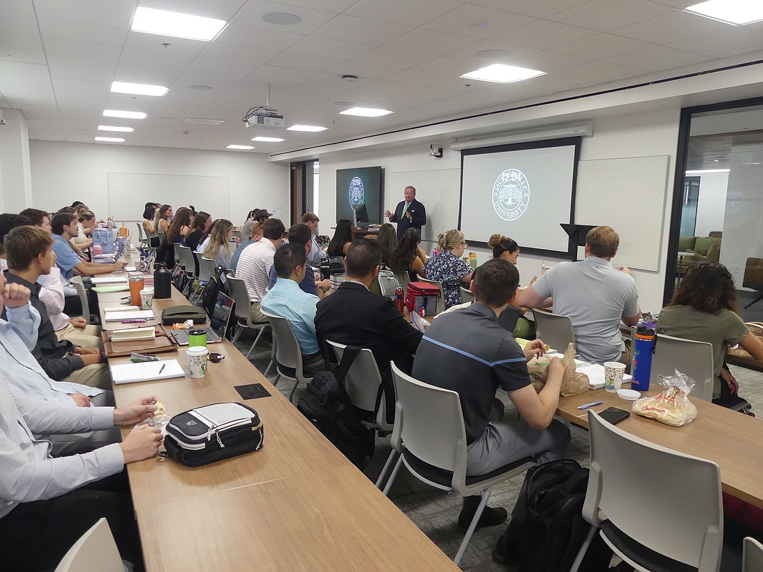
[{"label": "black backpack on the floor beside the dark polo man's chair", "polygon": [[[591,529],[582,516],[588,469],[571,459],[550,461],[530,468],[523,488],[524,522],[511,523],[497,550],[519,551],[520,572],[566,572]],[[595,535],[580,570],[608,570],[611,558],[611,549]]]}]

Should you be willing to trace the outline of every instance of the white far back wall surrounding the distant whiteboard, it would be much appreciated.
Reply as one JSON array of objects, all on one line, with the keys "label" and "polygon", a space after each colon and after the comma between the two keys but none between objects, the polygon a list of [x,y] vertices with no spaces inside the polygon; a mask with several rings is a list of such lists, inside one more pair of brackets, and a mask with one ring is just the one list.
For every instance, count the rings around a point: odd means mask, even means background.
[{"label": "white far back wall surrounding the distant whiteboard", "polygon": [[[194,203],[197,210],[205,210],[213,218],[230,213],[230,220],[238,225],[255,207],[275,207],[277,210],[271,212],[288,227],[289,167],[268,162],[260,153],[34,140],[29,146],[32,204],[27,206],[58,210],[73,201],[83,201],[96,216],[105,218],[109,214],[109,172],[222,176],[230,185],[228,204],[216,204],[218,199],[210,197],[207,204]],[[163,198],[156,197],[156,201]],[[183,205],[172,206],[176,210]],[[142,214],[143,203],[136,204],[135,220]]]}]

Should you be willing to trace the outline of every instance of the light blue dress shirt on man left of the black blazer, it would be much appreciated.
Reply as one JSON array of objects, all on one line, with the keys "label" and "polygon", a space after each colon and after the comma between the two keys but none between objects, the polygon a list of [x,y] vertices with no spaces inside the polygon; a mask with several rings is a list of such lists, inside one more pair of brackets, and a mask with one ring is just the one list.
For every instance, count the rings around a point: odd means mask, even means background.
[{"label": "light blue dress shirt on man left of the black blazer", "polygon": [[262,298],[262,310],[285,317],[291,323],[299,347],[304,355],[317,353],[315,336],[315,312],[319,298],[307,294],[291,278],[278,278],[275,286]]}]

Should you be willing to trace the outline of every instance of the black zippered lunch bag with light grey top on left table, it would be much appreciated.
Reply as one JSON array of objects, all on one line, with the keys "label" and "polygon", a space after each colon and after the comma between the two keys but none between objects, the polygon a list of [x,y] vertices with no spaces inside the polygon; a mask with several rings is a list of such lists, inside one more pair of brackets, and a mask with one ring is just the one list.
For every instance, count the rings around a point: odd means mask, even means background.
[{"label": "black zippered lunch bag with light grey top on left table", "polygon": [[201,467],[258,451],[262,420],[243,403],[214,403],[169,419],[164,446],[167,456],[186,467]]}]

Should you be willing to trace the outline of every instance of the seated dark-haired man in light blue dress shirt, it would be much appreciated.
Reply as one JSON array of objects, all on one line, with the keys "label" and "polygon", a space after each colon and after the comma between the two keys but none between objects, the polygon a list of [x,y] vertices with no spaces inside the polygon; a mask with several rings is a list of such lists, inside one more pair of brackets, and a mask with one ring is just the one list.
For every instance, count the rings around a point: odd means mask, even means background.
[{"label": "seated dark-haired man in light blue dress shirt", "polygon": [[262,298],[262,310],[289,321],[302,350],[302,369],[307,374],[314,374],[324,369],[324,358],[315,336],[314,320],[319,298],[299,288],[306,263],[307,255],[302,244],[288,243],[275,251],[273,266],[278,280]]}]

